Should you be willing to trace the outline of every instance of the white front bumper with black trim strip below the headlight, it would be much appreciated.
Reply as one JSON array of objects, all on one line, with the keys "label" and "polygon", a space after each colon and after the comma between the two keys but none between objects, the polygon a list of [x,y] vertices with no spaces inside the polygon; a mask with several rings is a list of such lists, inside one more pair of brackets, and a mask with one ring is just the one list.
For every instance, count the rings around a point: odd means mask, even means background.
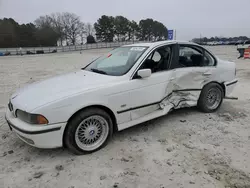
[{"label": "white front bumper with black trim strip below the headlight", "polygon": [[7,110],[5,119],[10,129],[27,144],[37,148],[57,148],[63,146],[65,123],[53,125],[30,125],[13,116]]}]

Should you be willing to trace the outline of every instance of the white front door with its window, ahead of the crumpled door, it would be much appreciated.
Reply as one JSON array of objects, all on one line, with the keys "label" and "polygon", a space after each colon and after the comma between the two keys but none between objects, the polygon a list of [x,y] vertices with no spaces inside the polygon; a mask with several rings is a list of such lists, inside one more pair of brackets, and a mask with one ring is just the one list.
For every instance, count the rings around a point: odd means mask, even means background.
[{"label": "white front door with its window, ahead of the crumpled door", "polygon": [[151,69],[152,75],[140,79],[134,75],[130,81],[134,89],[130,92],[131,119],[135,120],[160,109],[162,100],[172,92],[173,71],[169,65],[173,59],[174,45],[162,46],[154,50],[140,66]]}]

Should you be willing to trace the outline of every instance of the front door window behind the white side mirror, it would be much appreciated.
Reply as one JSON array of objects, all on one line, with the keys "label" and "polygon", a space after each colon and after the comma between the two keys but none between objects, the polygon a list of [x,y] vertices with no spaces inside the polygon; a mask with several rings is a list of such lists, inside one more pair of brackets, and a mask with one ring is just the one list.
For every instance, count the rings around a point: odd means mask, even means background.
[{"label": "front door window behind the white side mirror", "polygon": [[171,46],[163,46],[154,50],[143,62],[140,69],[151,69],[152,73],[164,71],[168,69],[171,59]]}]

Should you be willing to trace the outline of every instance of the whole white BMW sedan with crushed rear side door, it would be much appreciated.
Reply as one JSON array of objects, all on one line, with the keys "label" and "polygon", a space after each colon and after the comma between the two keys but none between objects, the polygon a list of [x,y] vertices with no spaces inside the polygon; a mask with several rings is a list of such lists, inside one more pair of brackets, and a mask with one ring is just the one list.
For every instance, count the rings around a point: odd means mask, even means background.
[{"label": "whole white BMW sedan with crushed rear side door", "polygon": [[32,146],[85,154],[102,148],[115,130],[174,109],[216,111],[233,91],[235,77],[235,63],[194,43],[126,45],[77,72],[17,91],[6,120]]}]

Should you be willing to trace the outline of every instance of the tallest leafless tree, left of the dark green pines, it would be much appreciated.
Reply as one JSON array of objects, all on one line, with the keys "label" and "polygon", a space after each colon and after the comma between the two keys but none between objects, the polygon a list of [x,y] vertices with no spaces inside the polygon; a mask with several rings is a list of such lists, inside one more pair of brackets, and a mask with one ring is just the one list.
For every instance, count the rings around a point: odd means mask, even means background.
[{"label": "tallest leafless tree, left of the dark green pines", "polygon": [[75,45],[78,37],[80,37],[83,23],[77,15],[68,12],[62,13],[62,23],[66,40]]}]

